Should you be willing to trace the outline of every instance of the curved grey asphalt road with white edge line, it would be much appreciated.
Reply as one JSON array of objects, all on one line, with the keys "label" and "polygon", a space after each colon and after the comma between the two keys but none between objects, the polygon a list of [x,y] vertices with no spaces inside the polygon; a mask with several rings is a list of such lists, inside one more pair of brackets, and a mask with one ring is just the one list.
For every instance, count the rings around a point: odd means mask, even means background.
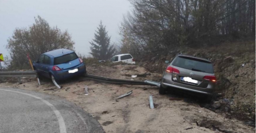
[{"label": "curved grey asphalt road with white edge line", "polygon": [[60,97],[0,88],[0,132],[104,132],[90,114]]}]

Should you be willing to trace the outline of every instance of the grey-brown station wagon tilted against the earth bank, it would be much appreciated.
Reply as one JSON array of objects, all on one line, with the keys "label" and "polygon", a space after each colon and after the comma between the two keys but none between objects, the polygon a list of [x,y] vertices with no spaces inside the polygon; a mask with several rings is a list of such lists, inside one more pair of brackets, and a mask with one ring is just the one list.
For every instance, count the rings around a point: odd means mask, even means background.
[{"label": "grey-brown station wagon tilted against the earth bank", "polygon": [[216,83],[214,68],[210,60],[179,54],[168,64],[161,81],[160,94],[167,88],[179,88],[202,93],[211,97]]}]

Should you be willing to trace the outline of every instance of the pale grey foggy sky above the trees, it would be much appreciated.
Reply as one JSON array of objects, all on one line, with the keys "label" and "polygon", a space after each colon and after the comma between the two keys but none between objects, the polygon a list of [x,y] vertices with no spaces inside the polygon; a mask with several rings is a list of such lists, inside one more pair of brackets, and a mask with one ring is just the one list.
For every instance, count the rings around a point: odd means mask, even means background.
[{"label": "pale grey foggy sky above the trees", "polygon": [[75,50],[88,55],[89,41],[94,38],[100,20],[111,42],[118,44],[123,14],[131,9],[127,0],[0,0],[0,53],[9,54],[5,46],[15,28],[28,28],[34,17],[40,15],[51,27],[57,25],[61,31],[68,30]]}]

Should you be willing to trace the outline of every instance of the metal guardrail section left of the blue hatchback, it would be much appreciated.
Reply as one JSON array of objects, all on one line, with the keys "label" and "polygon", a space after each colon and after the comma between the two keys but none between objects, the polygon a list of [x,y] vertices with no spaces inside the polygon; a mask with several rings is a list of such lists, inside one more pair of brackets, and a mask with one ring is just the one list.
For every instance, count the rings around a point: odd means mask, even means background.
[{"label": "metal guardrail section left of the blue hatchback", "polygon": [[37,77],[36,71],[0,72],[0,77]]}]

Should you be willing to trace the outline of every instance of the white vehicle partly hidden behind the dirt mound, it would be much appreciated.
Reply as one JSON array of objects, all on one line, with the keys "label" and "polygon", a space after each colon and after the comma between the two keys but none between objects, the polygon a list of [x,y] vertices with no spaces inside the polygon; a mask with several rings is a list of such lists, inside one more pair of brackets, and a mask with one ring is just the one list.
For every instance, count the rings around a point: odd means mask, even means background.
[{"label": "white vehicle partly hidden behind the dirt mound", "polygon": [[113,56],[111,58],[111,62],[125,62],[128,64],[135,64],[133,56],[131,54],[118,54],[117,56]]}]

